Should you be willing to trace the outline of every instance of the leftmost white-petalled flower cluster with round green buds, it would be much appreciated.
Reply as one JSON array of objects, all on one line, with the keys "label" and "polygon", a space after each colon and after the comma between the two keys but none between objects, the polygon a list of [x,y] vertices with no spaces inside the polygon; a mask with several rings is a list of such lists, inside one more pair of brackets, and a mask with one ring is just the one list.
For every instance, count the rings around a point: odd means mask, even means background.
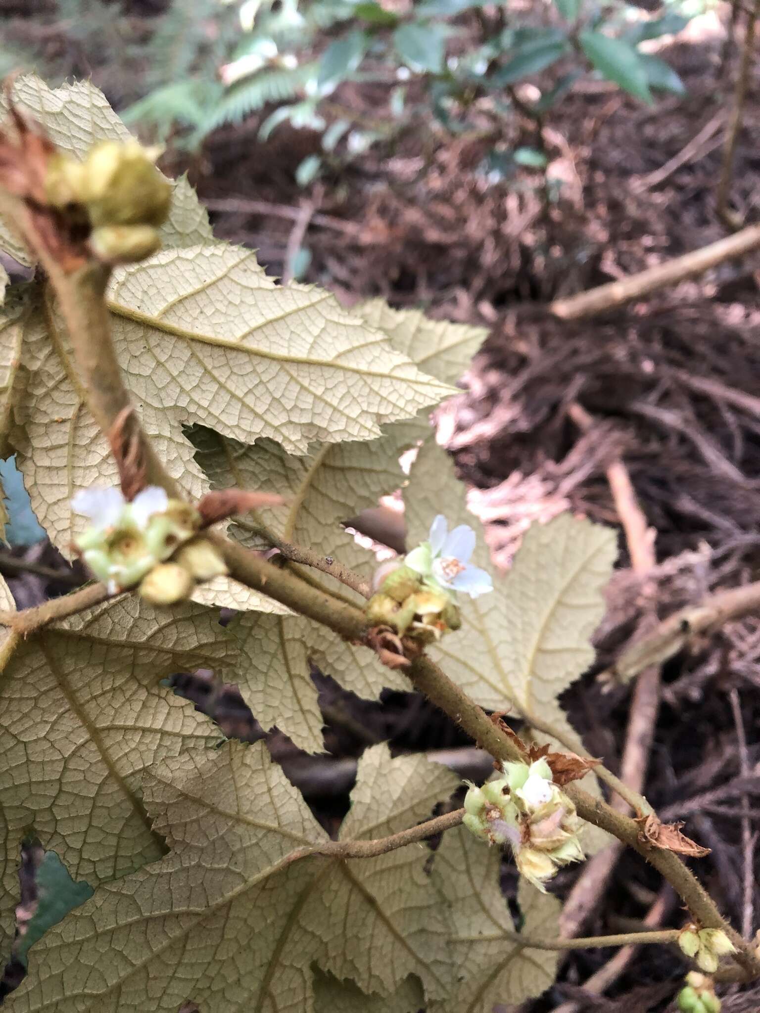
[{"label": "leftmost white-petalled flower cluster with round green buds", "polygon": [[199,535],[198,511],[158,486],[131,502],[117,488],[82,489],[71,504],[90,520],[76,546],[110,594],[139,583],[146,601],[173,605],[189,597],[197,580],[227,572],[216,548]]}]

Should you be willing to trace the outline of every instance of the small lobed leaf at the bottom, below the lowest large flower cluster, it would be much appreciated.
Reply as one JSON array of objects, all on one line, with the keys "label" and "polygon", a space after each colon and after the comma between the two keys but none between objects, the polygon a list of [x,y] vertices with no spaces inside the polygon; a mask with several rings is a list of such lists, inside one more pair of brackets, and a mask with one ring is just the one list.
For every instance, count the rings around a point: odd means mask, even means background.
[{"label": "small lobed leaf at the bottom, below the lowest large flower cluster", "polygon": [[[451,955],[457,982],[452,995],[430,1013],[491,1013],[495,1005],[517,1006],[540,996],[554,981],[555,952],[515,942],[500,889],[502,853],[464,828],[449,831],[436,852],[433,879],[451,911]],[[522,930],[551,939],[558,934],[560,904],[520,882]]]}]

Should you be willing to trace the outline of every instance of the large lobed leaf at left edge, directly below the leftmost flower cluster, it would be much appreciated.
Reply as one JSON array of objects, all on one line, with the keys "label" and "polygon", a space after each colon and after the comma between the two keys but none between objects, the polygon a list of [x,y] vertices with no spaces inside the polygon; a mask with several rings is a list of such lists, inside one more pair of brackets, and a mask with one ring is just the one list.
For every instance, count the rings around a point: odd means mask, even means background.
[{"label": "large lobed leaf at left edge, directly below the leftmost flower cluster", "polygon": [[221,733],[159,680],[202,666],[219,670],[234,644],[210,610],[157,612],[137,598],[96,606],[24,640],[6,637],[0,867],[7,925],[28,833],[75,879],[92,884],[160,856],[141,799],[143,771]]}]

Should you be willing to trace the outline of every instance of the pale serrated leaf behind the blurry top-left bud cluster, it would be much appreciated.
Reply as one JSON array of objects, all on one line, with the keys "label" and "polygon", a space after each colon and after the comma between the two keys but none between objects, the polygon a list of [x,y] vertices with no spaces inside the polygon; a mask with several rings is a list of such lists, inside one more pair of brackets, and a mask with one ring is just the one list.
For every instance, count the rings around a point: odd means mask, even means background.
[{"label": "pale serrated leaf behind the blurry top-left bud cluster", "polygon": [[[81,158],[95,141],[126,141],[132,136],[103,93],[87,81],[53,89],[34,74],[25,74],[13,83],[11,94],[19,109],[30,113],[54,144],[67,154]],[[0,96],[0,120],[5,120],[7,108],[7,99]],[[161,228],[161,236],[168,246],[213,241],[206,210],[184,178],[174,184],[171,212]],[[0,249],[19,263],[34,262],[2,216]]]}]

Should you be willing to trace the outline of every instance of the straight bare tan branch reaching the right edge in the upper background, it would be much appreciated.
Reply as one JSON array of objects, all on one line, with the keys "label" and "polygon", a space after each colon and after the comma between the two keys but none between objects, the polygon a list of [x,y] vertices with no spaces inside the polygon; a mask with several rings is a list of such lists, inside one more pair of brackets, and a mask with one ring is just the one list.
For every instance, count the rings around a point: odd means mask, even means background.
[{"label": "straight bare tan branch reaching the right edge in the upper background", "polygon": [[628,303],[632,299],[649,296],[659,289],[676,285],[694,275],[701,275],[710,267],[742,256],[760,246],[760,225],[751,225],[736,235],[718,239],[701,249],[684,253],[655,267],[648,267],[638,275],[631,275],[620,282],[600,285],[589,292],[581,292],[568,299],[556,299],[549,305],[554,316],[562,320],[580,320]]}]

